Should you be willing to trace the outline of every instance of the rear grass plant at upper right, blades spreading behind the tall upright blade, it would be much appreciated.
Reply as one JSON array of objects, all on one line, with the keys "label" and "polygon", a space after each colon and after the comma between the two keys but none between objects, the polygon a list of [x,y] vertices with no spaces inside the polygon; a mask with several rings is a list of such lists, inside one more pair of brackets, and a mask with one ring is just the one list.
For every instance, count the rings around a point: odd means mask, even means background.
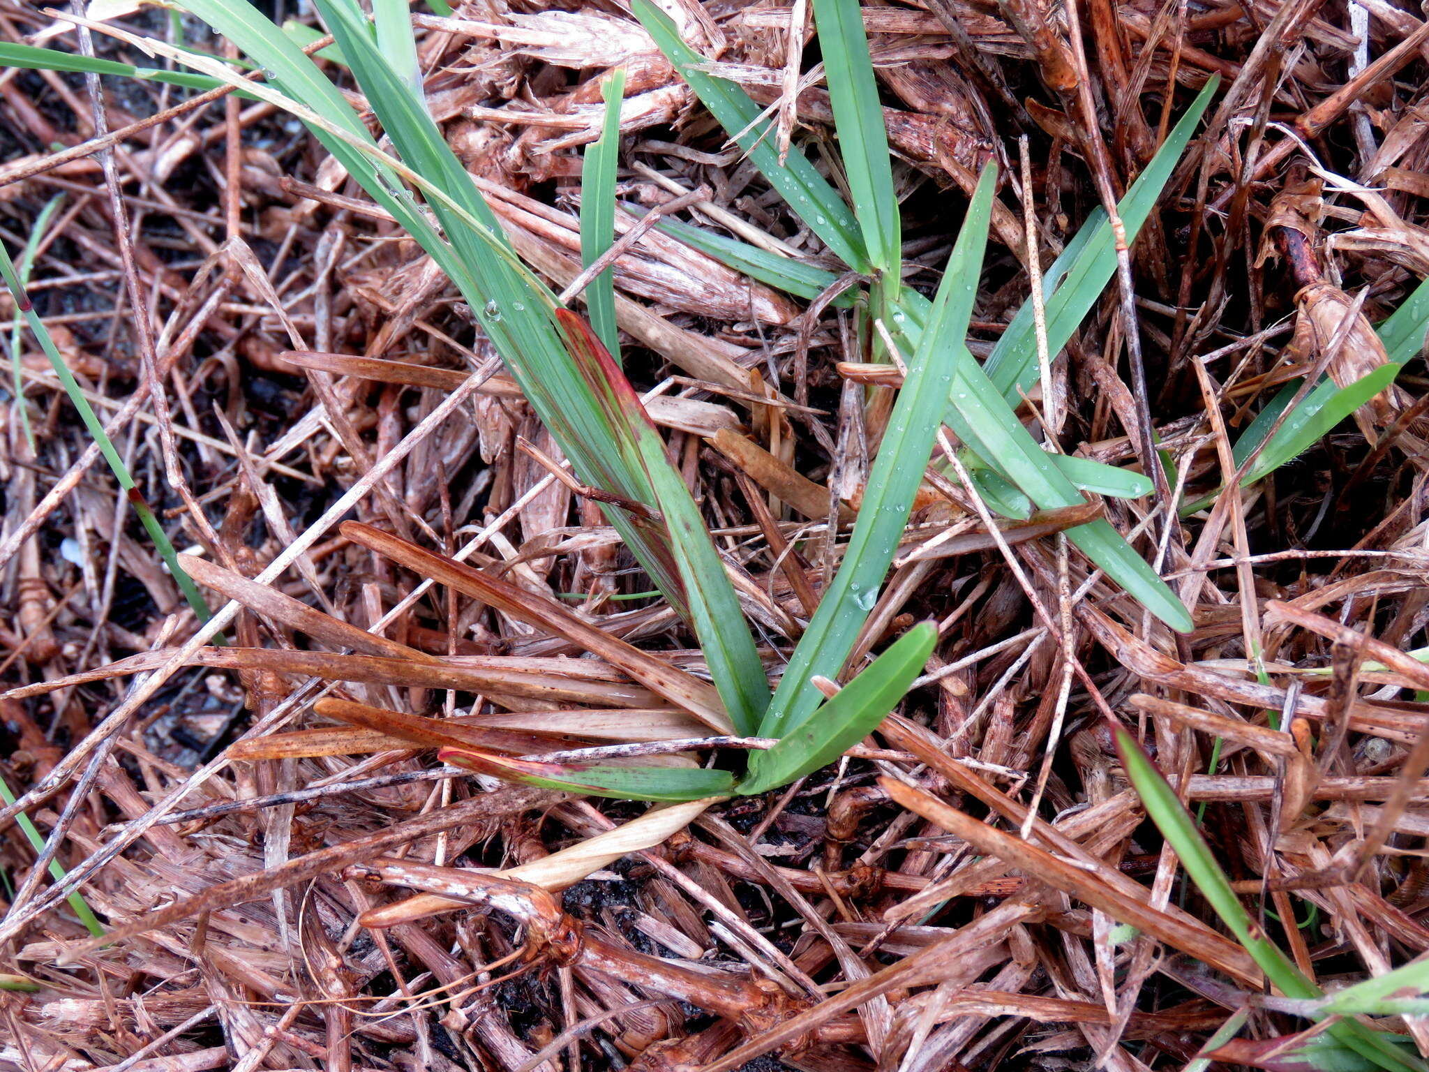
[{"label": "rear grass plant at upper right, blades spreading behind the tall upright blade", "polygon": [[[896,236],[896,230],[883,223],[885,206],[892,200],[896,212],[896,197],[892,182],[885,184],[882,179],[882,167],[887,166],[887,142],[882,123],[873,134],[867,119],[870,101],[873,107],[877,104],[877,90],[857,0],[815,3],[815,19],[822,31],[820,44],[829,71],[835,127],[845,149],[845,172],[855,200],[853,214],[860,224],[857,230],[850,226],[846,209],[835,210],[836,206],[843,206],[843,200],[797,149],[790,149],[786,160],[779,162],[769,136],[770,120],[760,119],[759,106],[739,86],[702,69],[703,57],[684,44],[669,16],[649,0],[633,0],[632,11],[696,96],[749,153],[770,186],[779,190],[793,213],[853,272],[870,276],[869,309],[885,319],[895,337],[906,343],[907,352],[915,352],[927,317],[927,302],[913,290],[897,289],[897,272],[880,262],[890,233]],[[836,77],[836,71],[842,77]],[[1150,214],[1218,86],[1219,79],[1206,84],[1117,206],[1129,239],[1135,237]],[[875,152],[882,154],[882,166],[876,167],[869,160]],[[779,266],[770,263],[773,254],[729,239],[704,236],[702,249],[735,267],[749,270],[762,282],[783,286],[790,293],[806,294],[819,279],[809,272],[799,272],[780,282]],[[1047,344],[1053,352],[1066,344],[1115,269],[1112,229],[1105,213],[1093,213],[1045,276],[1043,284],[1050,290],[1046,304]],[[1043,509],[1077,505],[1082,502],[1077,486],[1057,470],[1056,462],[1036,445],[1013,412],[1022,393],[1030,389],[1036,367],[1032,303],[1027,302],[1007,326],[986,366],[977,364],[963,350],[957,374],[949,384],[945,420],[977,456],[977,467],[1005,480],[1015,496],[1026,496],[1022,502],[1030,500]],[[996,493],[992,502],[1002,507],[1020,505],[1017,497]],[[1180,632],[1192,629],[1190,615],[1175,593],[1109,523],[1076,526],[1067,530],[1067,537],[1153,615]],[[832,656],[826,662],[832,662]],[[776,708],[783,693],[785,688],[780,686]]]}]

